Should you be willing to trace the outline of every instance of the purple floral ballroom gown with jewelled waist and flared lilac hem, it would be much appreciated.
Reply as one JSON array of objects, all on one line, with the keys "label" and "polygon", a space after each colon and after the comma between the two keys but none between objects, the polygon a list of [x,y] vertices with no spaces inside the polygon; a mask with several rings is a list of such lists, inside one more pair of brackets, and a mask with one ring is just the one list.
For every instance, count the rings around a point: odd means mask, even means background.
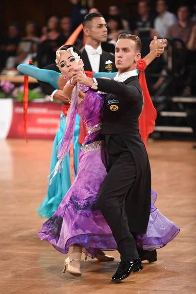
[{"label": "purple floral ballroom gown with jewelled waist and flared lilac hem", "polygon": [[[117,249],[112,232],[97,206],[98,191],[107,174],[105,141],[100,135],[105,97],[103,93],[88,89],[80,105],[75,106],[75,113],[77,110],[88,131],[79,151],[77,175],[59,207],[39,232],[41,240],[48,241],[64,254],[74,244],[83,246],[83,252],[91,257],[97,255],[98,249]],[[136,237],[137,246],[146,250],[165,246],[179,232],[179,228],[154,206],[156,193],[153,190],[151,196],[147,232]]]}]

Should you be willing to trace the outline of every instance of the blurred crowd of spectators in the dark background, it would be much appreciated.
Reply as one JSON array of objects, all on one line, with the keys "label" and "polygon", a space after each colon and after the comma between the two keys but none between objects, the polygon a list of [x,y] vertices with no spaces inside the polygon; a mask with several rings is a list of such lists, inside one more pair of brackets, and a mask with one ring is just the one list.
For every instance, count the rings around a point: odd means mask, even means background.
[{"label": "blurred crowd of spectators in the dark background", "polygon": [[[36,25],[33,21],[28,21],[25,25],[25,34],[20,39],[19,29],[16,24],[8,27],[7,37],[0,42],[0,71],[2,69],[12,69],[18,63],[28,63],[33,59],[37,61],[39,67],[45,67],[55,59],[55,51],[63,45],[74,29],[81,24],[87,13],[99,13],[94,6],[94,0],[69,0],[71,5],[71,16],[65,15],[59,18],[52,16],[49,18],[47,25],[44,25],[39,35],[36,34]],[[193,4],[193,10],[190,14],[187,4],[180,5],[177,10],[177,19],[174,14],[168,11],[166,0],[156,0],[156,11],[158,16],[155,17],[150,11],[148,0],[139,0],[137,3],[138,17],[131,23],[131,30],[142,38],[142,54],[146,55],[150,38],[157,35],[161,38],[177,40],[175,50],[177,62],[181,62],[179,56],[182,56],[185,48],[186,77],[184,77],[185,87],[183,95],[195,95],[196,86],[196,2]],[[123,14],[125,15],[125,14]],[[123,17],[118,4],[111,4],[108,7],[106,17],[108,26],[108,41],[102,43],[102,49],[114,53],[115,44],[118,36],[122,32],[131,33],[129,22]],[[181,41],[180,41],[181,40]],[[181,43],[180,43],[181,42]],[[171,43],[172,44],[172,43]],[[184,46],[185,44],[185,46]],[[83,47],[83,34],[81,33],[75,43],[78,49]],[[145,51],[147,49],[147,52]],[[187,53],[188,52],[188,53]],[[194,55],[195,54],[195,55]],[[159,66],[156,67],[162,76],[153,83],[153,89],[156,91],[163,83],[165,78],[172,74],[172,46],[165,50],[162,61],[159,59]],[[178,56],[178,57],[177,57]],[[195,56],[195,57],[194,57]],[[183,61],[183,60],[182,60]],[[183,63],[183,62],[181,62]],[[180,68],[180,65],[178,65]]]}]

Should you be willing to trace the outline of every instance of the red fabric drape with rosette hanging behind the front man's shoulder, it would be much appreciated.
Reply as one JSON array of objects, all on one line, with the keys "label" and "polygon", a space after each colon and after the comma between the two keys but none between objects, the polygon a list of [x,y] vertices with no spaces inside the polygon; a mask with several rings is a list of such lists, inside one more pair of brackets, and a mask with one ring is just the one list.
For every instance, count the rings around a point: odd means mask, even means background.
[{"label": "red fabric drape with rosette hanging behind the front man's shoulder", "polygon": [[144,108],[139,119],[139,129],[141,138],[147,148],[147,138],[154,130],[157,113],[147,89],[147,81],[145,76],[146,67],[146,61],[144,59],[140,59],[137,64],[137,69],[140,71],[139,82],[144,96]]}]

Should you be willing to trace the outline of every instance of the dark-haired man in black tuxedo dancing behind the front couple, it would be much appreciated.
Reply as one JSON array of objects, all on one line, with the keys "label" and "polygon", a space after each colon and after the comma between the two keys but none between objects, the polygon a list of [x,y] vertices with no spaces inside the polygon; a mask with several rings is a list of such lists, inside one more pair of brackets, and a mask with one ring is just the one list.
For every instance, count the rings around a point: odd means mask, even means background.
[{"label": "dark-haired man in black tuxedo dancing behind the front couple", "polygon": [[[83,32],[86,36],[86,45],[81,54],[84,70],[104,73],[117,72],[114,55],[101,49],[101,42],[107,41],[107,27],[104,18],[98,13],[86,15],[83,22]],[[45,68],[59,72],[56,63]],[[51,97],[51,100],[54,98],[65,103],[69,102],[62,90],[56,90],[48,83],[41,81],[39,84],[43,92]]]}]

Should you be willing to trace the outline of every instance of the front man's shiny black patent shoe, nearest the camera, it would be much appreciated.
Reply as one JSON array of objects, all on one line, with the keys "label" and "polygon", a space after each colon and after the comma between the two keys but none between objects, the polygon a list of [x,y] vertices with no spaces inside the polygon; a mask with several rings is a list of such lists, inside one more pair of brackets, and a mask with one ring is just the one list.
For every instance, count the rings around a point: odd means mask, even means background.
[{"label": "front man's shiny black patent shoe, nearest the camera", "polygon": [[127,261],[121,261],[119,268],[111,278],[113,283],[120,283],[126,279],[130,273],[143,270],[142,262],[139,258]]}]

